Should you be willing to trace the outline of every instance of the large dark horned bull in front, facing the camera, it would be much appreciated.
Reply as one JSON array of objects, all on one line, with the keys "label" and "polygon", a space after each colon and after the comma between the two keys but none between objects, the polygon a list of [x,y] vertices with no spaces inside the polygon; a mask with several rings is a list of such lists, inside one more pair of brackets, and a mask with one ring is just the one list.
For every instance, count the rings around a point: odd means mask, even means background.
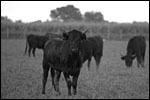
[{"label": "large dark horned bull in front, facing the camera", "polygon": [[[82,67],[80,47],[81,42],[86,39],[86,35],[85,32],[82,33],[77,30],[72,30],[68,33],[63,33],[63,38],[63,40],[52,39],[45,44],[42,63],[42,94],[45,94],[49,68],[51,68],[53,87],[58,94],[60,94],[59,78],[61,72],[63,72],[67,83],[68,94],[71,95],[71,87],[73,87],[73,94],[75,95],[77,93],[77,80]],[[70,76],[73,76],[72,81]]]}]

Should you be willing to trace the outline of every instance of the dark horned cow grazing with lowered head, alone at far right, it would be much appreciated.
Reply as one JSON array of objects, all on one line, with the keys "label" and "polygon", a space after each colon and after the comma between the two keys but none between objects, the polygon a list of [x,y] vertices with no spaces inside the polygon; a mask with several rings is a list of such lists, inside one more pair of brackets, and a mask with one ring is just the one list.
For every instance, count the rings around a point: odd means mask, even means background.
[{"label": "dark horned cow grazing with lowered head, alone at far right", "polygon": [[132,66],[132,61],[137,58],[137,65],[144,67],[144,57],[146,50],[146,42],[143,36],[132,37],[127,46],[127,54],[122,56],[121,59],[125,60],[127,67]]}]

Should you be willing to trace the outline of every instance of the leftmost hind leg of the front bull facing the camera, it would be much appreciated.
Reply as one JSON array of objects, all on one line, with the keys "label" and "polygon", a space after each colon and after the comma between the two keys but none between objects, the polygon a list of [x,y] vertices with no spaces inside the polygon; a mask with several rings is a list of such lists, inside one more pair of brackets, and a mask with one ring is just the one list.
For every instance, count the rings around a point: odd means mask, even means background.
[{"label": "leftmost hind leg of the front bull facing the camera", "polygon": [[45,94],[45,86],[46,86],[46,82],[47,82],[49,68],[50,68],[49,65],[43,61],[43,80],[42,80],[43,88],[42,88],[42,94]]}]

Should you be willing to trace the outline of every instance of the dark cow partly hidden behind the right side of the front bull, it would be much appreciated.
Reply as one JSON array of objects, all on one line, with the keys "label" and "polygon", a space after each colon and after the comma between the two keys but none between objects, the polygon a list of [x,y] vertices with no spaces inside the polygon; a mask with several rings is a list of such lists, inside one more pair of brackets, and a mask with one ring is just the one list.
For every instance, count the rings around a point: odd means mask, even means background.
[{"label": "dark cow partly hidden behind the right side of the front bull", "polygon": [[96,66],[98,70],[102,55],[103,55],[103,39],[101,36],[88,37],[85,41],[82,42],[81,60],[82,63],[88,60],[88,70],[90,69],[90,62],[92,56],[96,61]]}]

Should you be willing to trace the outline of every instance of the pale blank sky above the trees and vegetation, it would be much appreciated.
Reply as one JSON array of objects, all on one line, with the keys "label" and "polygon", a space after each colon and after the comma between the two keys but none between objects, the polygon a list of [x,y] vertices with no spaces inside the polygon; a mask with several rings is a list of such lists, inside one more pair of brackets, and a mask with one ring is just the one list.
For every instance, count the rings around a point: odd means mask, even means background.
[{"label": "pale blank sky above the trees and vegetation", "polygon": [[1,1],[1,16],[13,21],[51,20],[50,11],[74,5],[81,14],[101,12],[109,22],[149,22],[149,1]]}]

